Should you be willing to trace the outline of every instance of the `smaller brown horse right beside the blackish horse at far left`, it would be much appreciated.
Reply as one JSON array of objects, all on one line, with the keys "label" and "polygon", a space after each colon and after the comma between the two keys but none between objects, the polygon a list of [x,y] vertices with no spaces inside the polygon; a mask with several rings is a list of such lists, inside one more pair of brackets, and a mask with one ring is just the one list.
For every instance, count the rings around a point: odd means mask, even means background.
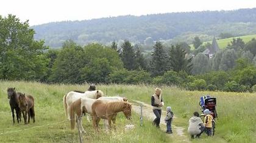
[{"label": "smaller brown horse right beside the blackish horse at far left", "polygon": [[[26,96],[25,93],[21,93],[19,97],[19,107],[23,114],[25,124],[30,122],[30,117],[33,118],[33,121],[35,122],[34,98],[32,96]],[[28,121],[27,116],[29,118]]]}]

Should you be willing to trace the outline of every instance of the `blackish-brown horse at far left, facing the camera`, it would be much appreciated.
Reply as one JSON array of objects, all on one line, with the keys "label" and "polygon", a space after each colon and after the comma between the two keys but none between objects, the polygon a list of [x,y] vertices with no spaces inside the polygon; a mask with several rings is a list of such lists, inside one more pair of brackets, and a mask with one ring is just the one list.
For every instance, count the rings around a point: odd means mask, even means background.
[{"label": "blackish-brown horse at far left, facing the camera", "polygon": [[14,88],[7,89],[7,96],[8,96],[8,99],[10,99],[9,104],[10,104],[10,108],[12,110],[13,124],[15,123],[14,110],[16,111],[17,122],[20,123],[21,122],[21,111],[20,111],[20,107],[18,105],[20,94],[16,93],[15,87],[14,87]]}]

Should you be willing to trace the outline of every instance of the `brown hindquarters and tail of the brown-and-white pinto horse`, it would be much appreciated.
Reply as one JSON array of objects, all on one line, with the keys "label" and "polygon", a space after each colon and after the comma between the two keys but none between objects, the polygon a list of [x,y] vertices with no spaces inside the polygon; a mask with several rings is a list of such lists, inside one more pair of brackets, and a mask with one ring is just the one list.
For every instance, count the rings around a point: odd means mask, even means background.
[{"label": "brown hindquarters and tail of the brown-and-white pinto horse", "polygon": [[[70,105],[69,115],[70,115],[71,130],[74,130],[74,128],[76,127],[75,126],[75,112],[77,114],[79,114],[79,111],[81,112],[80,108],[81,108],[81,99],[78,99],[77,101],[73,102]],[[79,114],[79,116],[80,116],[80,114]]]}]

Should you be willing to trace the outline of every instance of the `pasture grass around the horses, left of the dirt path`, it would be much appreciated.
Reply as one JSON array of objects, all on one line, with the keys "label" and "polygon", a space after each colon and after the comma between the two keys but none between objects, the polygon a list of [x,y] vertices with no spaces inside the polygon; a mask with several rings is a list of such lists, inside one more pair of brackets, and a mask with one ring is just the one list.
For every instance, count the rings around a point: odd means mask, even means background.
[{"label": "pasture grass around the horses, left of the dirt path", "polygon": [[[71,90],[84,90],[88,85],[47,85],[38,82],[0,82],[0,142],[79,142],[77,130],[70,130],[69,121],[65,121],[62,98]],[[12,124],[12,115],[7,99],[7,87],[16,87],[17,91],[30,94],[35,98],[35,124]],[[100,89],[101,87],[99,87]],[[83,136],[85,142],[170,142],[163,131],[145,121],[140,127],[140,118],[132,114],[135,130],[125,131],[124,127],[130,122],[119,113],[116,119],[116,131],[105,133],[101,123],[101,133],[97,134],[92,122],[84,119],[83,124],[87,133]],[[62,122],[64,121],[64,122]],[[15,119],[16,122],[16,119]],[[54,124],[52,124],[54,123]],[[48,125],[51,124],[51,125]],[[46,125],[46,126],[43,126]],[[34,128],[36,127],[36,128]],[[30,129],[29,129],[30,128]],[[29,130],[26,130],[29,129]],[[21,131],[20,131],[21,130]],[[155,136],[157,134],[157,136]]]}]

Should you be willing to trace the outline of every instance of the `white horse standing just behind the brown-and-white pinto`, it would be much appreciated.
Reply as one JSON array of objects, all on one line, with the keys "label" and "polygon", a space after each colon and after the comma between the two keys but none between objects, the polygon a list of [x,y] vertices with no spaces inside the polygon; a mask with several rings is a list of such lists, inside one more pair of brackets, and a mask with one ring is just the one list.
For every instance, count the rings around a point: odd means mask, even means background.
[{"label": "white horse standing just behind the brown-and-white pinto", "polygon": [[98,99],[102,96],[104,96],[104,93],[101,90],[85,91],[85,93],[77,93],[74,91],[70,91],[68,94],[63,96],[63,106],[64,106],[66,116],[68,117],[68,119],[70,119],[69,107],[77,99],[80,99],[82,97]]}]

